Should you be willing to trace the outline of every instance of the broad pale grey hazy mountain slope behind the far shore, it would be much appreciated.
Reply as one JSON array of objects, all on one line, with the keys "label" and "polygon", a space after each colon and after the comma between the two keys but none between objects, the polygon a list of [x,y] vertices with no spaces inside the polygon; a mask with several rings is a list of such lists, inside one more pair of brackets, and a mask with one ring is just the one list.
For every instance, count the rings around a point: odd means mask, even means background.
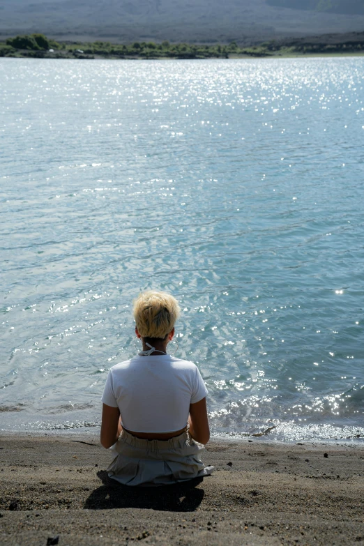
[{"label": "broad pale grey hazy mountain slope behind the far shore", "polygon": [[[269,1],[307,8],[313,0]],[[315,0],[316,8],[322,2],[344,0]],[[251,43],[363,29],[364,15],[298,10],[266,0],[0,0],[1,36],[43,32],[59,39]]]}]

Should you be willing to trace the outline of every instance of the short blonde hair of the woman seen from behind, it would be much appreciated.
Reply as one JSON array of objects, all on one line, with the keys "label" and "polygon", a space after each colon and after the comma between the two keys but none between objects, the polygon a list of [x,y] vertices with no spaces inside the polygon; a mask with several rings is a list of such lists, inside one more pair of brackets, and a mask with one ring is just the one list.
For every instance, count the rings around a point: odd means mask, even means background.
[{"label": "short blonde hair of the woman seen from behind", "polygon": [[142,338],[162,338],[172,331],[179,317],[179,303],[167,292],[149,290],[134,301],[134,318]]}]

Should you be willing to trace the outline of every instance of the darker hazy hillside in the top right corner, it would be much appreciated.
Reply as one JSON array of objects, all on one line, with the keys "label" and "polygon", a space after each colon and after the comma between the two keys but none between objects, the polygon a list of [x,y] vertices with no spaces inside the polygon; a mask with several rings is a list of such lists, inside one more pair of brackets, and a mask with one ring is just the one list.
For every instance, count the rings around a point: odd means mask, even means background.
[{"label": "darker hazy hillside in the top right corner", "polygon": [[326,13],[364,15],[363,0],[266,0],[270,6],[294,8],[297,10],[316,10]]}]

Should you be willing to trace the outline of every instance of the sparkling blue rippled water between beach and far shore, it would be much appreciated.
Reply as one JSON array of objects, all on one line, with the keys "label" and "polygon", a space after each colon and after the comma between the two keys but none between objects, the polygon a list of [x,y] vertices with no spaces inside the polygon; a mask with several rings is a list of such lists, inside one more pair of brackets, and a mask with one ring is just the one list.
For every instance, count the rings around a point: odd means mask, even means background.
[{"label": "sparkling blue rippled water between beach and far shore", "polygon": [[1,428],[99,424],[151,287],[213,432],[364,434],[363,85],[358,58],[0,59]]}]

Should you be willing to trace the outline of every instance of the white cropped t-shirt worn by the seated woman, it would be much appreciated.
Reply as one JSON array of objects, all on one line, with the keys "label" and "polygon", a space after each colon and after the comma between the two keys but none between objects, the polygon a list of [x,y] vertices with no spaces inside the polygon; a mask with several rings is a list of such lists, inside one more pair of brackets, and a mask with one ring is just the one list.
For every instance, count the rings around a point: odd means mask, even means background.
[{"label": "white cropped t-shirt worn by the seated woman", "polygon": [[175,432],[208,390],[195,364],[168,354],[135,356],[109,370],[101,398],[133,432]]}]

